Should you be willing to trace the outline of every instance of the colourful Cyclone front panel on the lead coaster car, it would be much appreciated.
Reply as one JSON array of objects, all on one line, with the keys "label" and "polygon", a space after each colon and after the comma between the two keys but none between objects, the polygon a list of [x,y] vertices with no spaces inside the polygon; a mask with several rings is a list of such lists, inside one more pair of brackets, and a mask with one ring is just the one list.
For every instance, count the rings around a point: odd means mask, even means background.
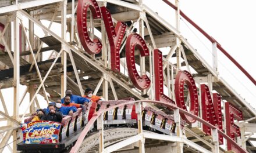
[{"label": "colourful Cyclone front panel on the lead coaster car", "polygon": [[49,144],[59,142],[61,124],[52,121],[35,121],[21,125],[24,144]]}]

